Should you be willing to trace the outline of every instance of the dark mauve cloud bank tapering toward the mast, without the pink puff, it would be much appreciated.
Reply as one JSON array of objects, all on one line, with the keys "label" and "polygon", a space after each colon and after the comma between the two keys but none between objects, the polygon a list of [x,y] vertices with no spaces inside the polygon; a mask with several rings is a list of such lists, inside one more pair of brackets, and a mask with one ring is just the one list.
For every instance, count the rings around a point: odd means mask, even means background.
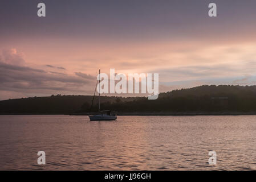
[{"label": "dark mauve cloud bank tapering toward the mast, without the pink puff", "polygon": [[27,93],[46,93],[45,90],[86,93],[93,88],[91,80],[82,77],[6,64],[0,64],[0,82],[0,90]]}]

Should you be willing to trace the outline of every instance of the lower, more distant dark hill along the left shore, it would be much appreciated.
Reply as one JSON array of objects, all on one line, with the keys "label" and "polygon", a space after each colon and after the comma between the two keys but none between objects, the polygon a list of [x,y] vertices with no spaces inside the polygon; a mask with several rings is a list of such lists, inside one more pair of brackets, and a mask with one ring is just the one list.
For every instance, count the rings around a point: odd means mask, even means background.
[{"label": "lower, more distant dark hill along the left shore", "polygon": [[[112,103],[116,100],[124,102],[135,100],[133,97],[101,96],[100,102]],[[95,109],[98,98],[95,97]],[[0,114],[71,114],[89,110],[92,96],[51,96],[29,97],[0,101]]]}]

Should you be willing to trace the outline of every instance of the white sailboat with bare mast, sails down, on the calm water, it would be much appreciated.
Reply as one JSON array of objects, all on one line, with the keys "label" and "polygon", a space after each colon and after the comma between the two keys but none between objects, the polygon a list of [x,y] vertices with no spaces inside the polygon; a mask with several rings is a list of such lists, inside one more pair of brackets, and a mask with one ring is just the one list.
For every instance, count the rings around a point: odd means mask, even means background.
[{"label": "white sailboat with bare mast, sails down, on the calm water", "polygon": [[[100,70],[99,70],[99,78],[100,78]],[[96,84],[96,88],[97,88],[97,84]],[[95,97],[95,92],[96,92],[96,88],[94,90],[94,97]],[[94,97],[92,97],[92,105],[94,103]],[[92,109],[92,105],[91,105],[91,109]],[[116,115],[115,115],[115,111],[112,110],[103,110],[100,111],[100,79],[99,79],[99,114],[96,115],[89,115],[90,117],[90,121],[109,121],[109,120],[115,120],[117,119]],[[91,111],[90,109],[90,111]]]}]

